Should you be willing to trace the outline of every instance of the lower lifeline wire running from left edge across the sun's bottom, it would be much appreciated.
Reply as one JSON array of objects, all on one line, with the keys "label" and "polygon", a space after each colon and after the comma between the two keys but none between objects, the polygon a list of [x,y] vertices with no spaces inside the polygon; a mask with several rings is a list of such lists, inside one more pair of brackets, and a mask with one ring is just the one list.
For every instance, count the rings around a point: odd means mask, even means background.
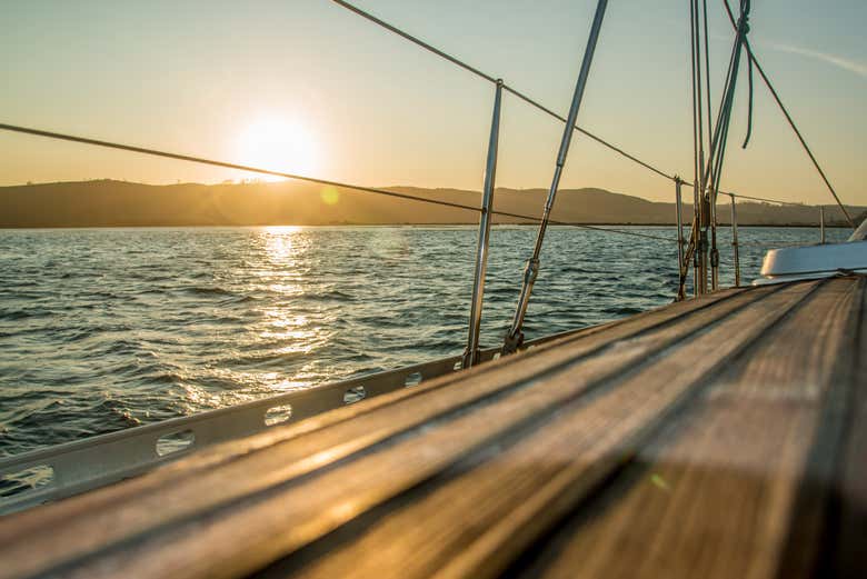
[{"label": "lower lifeline wire running from left edge across the sun's bottom", "polygon": [[[123,144],[123,143],[111,142],[111,141],[103,141],[103,140],[99,140],[99,139],[91,139],[91,138],[88,138],[88,137],[79,137],[79,136],[76,136],[76,134],[66,134],[66,133],[60,133],[60,132],[43,131],[43,130],[40,130],[40,129],[30,129],[30,128],[27,128],[27,127],[18,127],[16,124],[6,124],[6,123],[0,123],[0,130],[19,132],[19,133],[24,133],[24,134],[32,134],[32,136],[36,136],[36,137],[46,137],[46,138],[49,138],[49,139],[58,139],[58,140],[63,140],[63,141],[78,142],[78,143],[83,143],[83,144],[92,144],[92,146],[96,146],[96,147],[104,147],[107,149],[118,149],[118,150],[121,150],[121,151],[131,151],[131,152],[137,152],[137,153],[141,153],[141,154],[150,154],[150,156],[153,156],[153,157],[162,157],[162,158],[166,158],[166,159],[176,159],[176,160],[180,160],[180,161],[189,161],[189,162],[195,162],[195,163],[200,163],[200,164],[209,164],[209,166],[213,166],[213,167],[222,167],[222,168],[226,168],[226,169],[237,169],[237,170],[240,170],[240,171],[249,171],[249,172],[252,172],[252,173],[271,174],[271,176],[275,176],[275,177],[283,177],[283,178],[287,178],[287,179],[295,179],[295,180],[298,180],[298,181],[307,181],[307,182],[311,182],[311,183],[328,184],[328,186],[339,187],[341,189],[350,189],[350,190],[362,191],[362,192],[367,192],[367,193],[375,193],[375,194],[381,194],[381,196],[387,196],[387,197],[393,197],[393,198],[398,198],[398,199],[405,199],[407,201],[418,201],[418,202],[422,202],[422,203],[430,203],[430,204],[438,204],[438,206],[444,206],[444,207],[451,207],[451,208],[455,208],[455,209],[465,209],[465,210],[474,211],[474,212],[477,212],[477,213],[481,211],[481,209],[479,209],[477,207],[462,204],[462,203],[454,203],[451,201],[441,201],[439,199],[428,199],[428,198],[425,198],[425,197],[417,197],[417,196],[411,196],[411,194],[406,194],[406,193],[398,193],[396,191],[388,191],[386,189],[378,189],[378,188],[375,188],[375,187],[365,187],[365,186],[360,186],[360,184],[352,184],[352,183],[345,183],[345,182],[340,182],[340,181],[332,181],[332,180],[329,180],[329,179],[319,179],[317,177],[307,177],[307,176],[302,176],[302,174],[286,173],[286,172],[282,172],[282,171],[272,171],[270,169],[262,169],[262,168],[259,168],[259,167],[250,167],[250,166],[246,166],[246,164],[231,163],[231,162],[227,162],[227,161],[218,161],[218,160],[215,160],[215,159],[205,159],[202,157],[191,157],[189,154],[181,154],[181,153],[176,153],[176,152],[170,152],[170,151],[162,151],[162,150],[158,150],[158,149],[148,149],[148,148],[136,147],[136,146],[131,146],[131,144]],[[525,214],[521,214],[521,213],[511,213],[509,211],[491,211],[491,214],[502,216],[502,217],[511,217],[511,218],[516,218],[516,219],[524,219],[524,220],[527,220],[527,221],[538,221],[539,220],[538,217],[525,216]],[[609,229],[609,228],[605,228],[605,227],[588,226],[588,224],[581,224],[581,223],[569,223],[569,222],[565,222],[565,221],[551,221],[551,223],[555,223],[555,224],[558,224],[558,226],[570,226],[570,227],[580,227],[580,228],[584,228],[584,229],[594,229],[594,230],[597,230],[597,231],[608,231],[610,233],[619,233],[619,234],[624,234],[624,236],[644,237],[644,238],[648,238],[648,239],[658,239],[658,240],[671,241],[670,239],[664,238],[664,237],[660,237],[660,236],[652,236],[652,234],[649,234],[649,233],[639,233],[639,232],[636,232],[636,231],[627,231],[627,230],[624,230],[624,229]]]}]

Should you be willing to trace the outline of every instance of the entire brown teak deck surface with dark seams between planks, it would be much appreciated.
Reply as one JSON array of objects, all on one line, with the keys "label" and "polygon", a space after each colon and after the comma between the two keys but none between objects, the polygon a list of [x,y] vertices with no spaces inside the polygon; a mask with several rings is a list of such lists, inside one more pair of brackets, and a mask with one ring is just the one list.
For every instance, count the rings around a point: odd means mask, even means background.
[{"label": "entire brown teak deck surface with dark seams between planks", "polygon": [[725,290],[0,519],[0,578],[867,576],[867,278]]}]

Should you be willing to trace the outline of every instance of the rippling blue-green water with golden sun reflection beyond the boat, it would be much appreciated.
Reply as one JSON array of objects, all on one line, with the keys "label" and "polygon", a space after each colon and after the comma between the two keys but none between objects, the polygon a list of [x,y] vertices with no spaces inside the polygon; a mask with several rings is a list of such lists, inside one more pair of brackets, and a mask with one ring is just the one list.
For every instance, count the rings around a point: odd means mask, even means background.
[{"label": "rippling blue-green water with golden sun reflection beyond the boat", "polygon": [[[535,234],[492,231],[486,345]],[[475,244],[472,227],[0,230],[0,456],[460,353]],[[741,248],[744,279],[763,253]],[[526,331],[658,307],[676,283],[672,244],[555,227]]]}]

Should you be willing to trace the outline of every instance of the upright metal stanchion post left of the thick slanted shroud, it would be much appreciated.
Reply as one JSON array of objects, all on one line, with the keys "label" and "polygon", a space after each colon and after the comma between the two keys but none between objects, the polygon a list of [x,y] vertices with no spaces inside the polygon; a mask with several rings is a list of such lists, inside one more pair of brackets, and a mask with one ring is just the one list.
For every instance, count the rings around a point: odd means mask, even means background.
[{"label": "upright metal stanchion post left of the thick slanted shroud", "polygon": [[497,79],[494,93],[494,117],[490,121],[488,140],[488,162],[485,167],[485,190],[479,217],[479,244],[476,251],[476,273],[472,282],[472,302],[470,305],[467,349],[464,352],[464,368],[470,368],[479,361],[479,333],[481,332],[481,307],[485,298],[485,272],[488,268],[490,247],[491,210],[494,209],[494,184],[497,177],[497,144],[500,138],[500,106],[502,103],[502,79]]}]

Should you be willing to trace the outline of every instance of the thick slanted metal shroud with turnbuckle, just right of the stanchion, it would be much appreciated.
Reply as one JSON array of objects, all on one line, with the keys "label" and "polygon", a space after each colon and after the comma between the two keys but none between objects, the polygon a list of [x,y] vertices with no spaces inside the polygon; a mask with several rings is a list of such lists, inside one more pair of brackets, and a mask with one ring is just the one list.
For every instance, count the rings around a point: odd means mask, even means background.
[{"label": "thick slanted metal shroud with turnbuckle, just right of the stanchion", "polygon": [[587,39],[587,48],[584,51],[584,60],[581,61],[581,71],[578,73],[578,81],[575,84],[572,103],[569,107],[569,116],[566,119],[566,127],[564,127],[562,139],[560,140],[560,151],[557,153],[557,166],[554,169],[551,188],[548,191],[548,199],[545,202],[545,212],[542,213],[539,223],[539,232],[536,236],[536,247],[532,250],[532,257],[527,261],[527,266],[524,270],[524,283],[521,284],[521,293],[518,298],[518,307],[515,310],[515,318],[512,319],[511,327],[504,340],[502,353],[515,352],[524,342],[524,332],[521,331],[521,328],[524,326],[524,317],[527,313],[527,306],[530,301],[530,295],[532,293],[532,286],[536,283],[536,278],[539,276],[539,254],[541,253],[542,241],[545,240],[545,231],[548,228],[551,209],[554,208],[554,200],[557,197],[557,189],[560,186],[560,176],[562,174],[564,164],[566,164],[566,157],[569,154],[572,127],[578,118],[578,109],[581,107],[584,89],[587,87],[587,78],[590,74],[590,64],[594,61],[596,42],[599,40],[599,30],[602,28],[602,19],[605,18],[605,9],[607,7],[608,0],[599,0],[596,4],[594,23],[590,27],[590,38]]}]

